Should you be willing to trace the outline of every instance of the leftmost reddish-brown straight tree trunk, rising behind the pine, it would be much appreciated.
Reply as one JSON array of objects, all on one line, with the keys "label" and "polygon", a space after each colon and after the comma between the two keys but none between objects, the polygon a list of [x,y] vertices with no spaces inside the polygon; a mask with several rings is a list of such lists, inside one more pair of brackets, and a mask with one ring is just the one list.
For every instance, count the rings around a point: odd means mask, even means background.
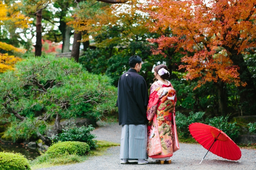
[{"label": "leftmost reddish-brown straight tree trunk, rising behind the pine", "polygon": [[42,10],[36,13],[36,45],[35,56],[42,55]]}]

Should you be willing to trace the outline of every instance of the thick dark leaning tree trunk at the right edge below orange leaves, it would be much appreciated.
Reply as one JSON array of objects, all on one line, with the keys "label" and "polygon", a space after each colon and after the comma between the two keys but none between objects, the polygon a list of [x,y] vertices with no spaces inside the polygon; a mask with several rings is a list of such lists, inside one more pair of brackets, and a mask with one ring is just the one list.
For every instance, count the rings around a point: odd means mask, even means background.
[{"label": "thick dark leaning tree trunk at the right edge below orange leaves", "polygon": [[231,55],[230,59],[233,61],[234,65],[239,66],[238,70],[240,74],[240,79],[243,82],[246,82],[247,85],[245,87],[239,86],[238,90],[240,92],[240,104],[241,104],[241,112],[247,115],[255,114],[256,108],[256,88],[254,85],[253,77],[247,68],[247,65],[244,61],[244,58],[241,54],[239,55]]}]

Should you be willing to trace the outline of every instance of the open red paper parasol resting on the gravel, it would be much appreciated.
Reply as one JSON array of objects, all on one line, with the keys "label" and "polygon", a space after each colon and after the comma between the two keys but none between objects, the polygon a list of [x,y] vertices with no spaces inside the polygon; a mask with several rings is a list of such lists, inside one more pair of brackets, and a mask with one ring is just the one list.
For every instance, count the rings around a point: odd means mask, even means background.
[{"label": "open red paper parasol resting on the gravel", "polygon": [[240,148],[222,130],[203,123],[192,123],[189,125],[189,130],[193,138],[208,149],[208,152],[229,160],[241,158]]}]

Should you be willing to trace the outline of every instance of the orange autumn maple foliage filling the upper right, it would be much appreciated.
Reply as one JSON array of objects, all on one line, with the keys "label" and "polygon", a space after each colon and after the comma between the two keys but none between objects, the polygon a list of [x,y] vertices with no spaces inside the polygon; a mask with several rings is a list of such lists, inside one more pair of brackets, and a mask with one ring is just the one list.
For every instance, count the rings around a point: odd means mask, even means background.
[{"label": "orange autumn maple foliage filling the upper right", "polygon": [[253,86],[239,75],[249,72],[242,55],[256,46],[256,0],[151,0],[142,7],[152,17],[152,32],[171,30],[150,39],[159,45],[155,53],[176,47],[193,54],[185,54],[180,68],[187,79],[201,78],[197,87],[218,80]]}]

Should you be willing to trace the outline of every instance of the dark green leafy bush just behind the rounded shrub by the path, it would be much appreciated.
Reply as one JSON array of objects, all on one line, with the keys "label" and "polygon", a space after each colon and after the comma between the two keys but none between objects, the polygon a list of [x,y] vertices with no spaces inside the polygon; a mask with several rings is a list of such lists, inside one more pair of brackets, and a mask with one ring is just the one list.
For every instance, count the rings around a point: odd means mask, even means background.
[{"label": "dark green leafy bush just behind the rounded shrub by the path", "polygon": [[86,142],[90,148],[96,147],[96,140],[93,140],[95,138],[95,135],[92,135],[90,131],[94,130],[95,128],[92,127],[92,125],[89,125],[88,127],[82,126],[80,128],[73,127],[70,129],[63,129],[61,134],[58,134],[54,141],[80,141],[80,142]]}]

